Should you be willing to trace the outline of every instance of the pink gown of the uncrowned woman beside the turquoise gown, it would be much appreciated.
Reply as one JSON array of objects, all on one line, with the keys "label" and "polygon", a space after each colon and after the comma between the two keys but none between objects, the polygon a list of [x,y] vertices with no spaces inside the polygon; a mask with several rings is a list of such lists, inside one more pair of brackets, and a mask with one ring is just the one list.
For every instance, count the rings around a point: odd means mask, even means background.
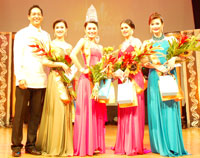
[{"label": "pink gown of the uncrowned woman beside the turquoise gown", "polygon": [[[130,45],[124,52],[132,52],[133,50],[134,47]],[[123,52],[120,50],[119,57],[121,56],[123,56]],[[144,78],[141,71],[132,77],[141,88],[144,88]],[[137,99],[138,106],[128,108],[118,107],[117,139],[114,148],[115,154],[138,155],[144,153],[144,92],[137,94]]]}]

